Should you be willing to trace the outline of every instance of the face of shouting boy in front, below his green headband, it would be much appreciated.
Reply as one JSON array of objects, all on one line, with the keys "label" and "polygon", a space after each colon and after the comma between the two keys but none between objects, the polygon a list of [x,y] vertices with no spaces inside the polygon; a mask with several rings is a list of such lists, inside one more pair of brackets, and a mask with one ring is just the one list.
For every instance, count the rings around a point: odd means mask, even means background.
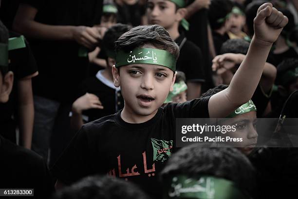
[{"label": "face of shouting boy in front, below his green headband", "polygon": [[114,85],[121,87],[124,109],[131,115],[151,116],[172,90],[176,75],[168,67],[154,64],[131,64],[112,69]]}]

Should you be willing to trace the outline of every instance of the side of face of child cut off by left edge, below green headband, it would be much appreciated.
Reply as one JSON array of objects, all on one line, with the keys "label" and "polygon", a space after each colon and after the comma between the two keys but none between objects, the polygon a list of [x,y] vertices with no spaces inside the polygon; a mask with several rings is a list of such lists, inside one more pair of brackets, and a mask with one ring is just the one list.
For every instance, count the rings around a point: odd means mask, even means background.
[{"label": "side of face of child cut off by left edge, below green headband", "polygon": [[12,90],[14,83],[14,74],[13,72],[9,71],[3,77],[2,86],[0,88],[0,102],[5,103],[9,99],[9,94]]}]

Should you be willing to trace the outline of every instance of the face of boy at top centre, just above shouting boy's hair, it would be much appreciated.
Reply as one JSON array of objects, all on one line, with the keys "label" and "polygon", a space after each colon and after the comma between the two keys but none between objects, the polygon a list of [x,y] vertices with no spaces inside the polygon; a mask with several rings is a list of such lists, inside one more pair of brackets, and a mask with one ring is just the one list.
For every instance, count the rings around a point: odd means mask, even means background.
[{"label": "face of boy at top centre, just above shouting boy's hair", "polygon": [[158,24],[165,29],[171,28],[181,20],[176,12],[175,3],[169,0],[148,0],[147,16],[149,24]]}]

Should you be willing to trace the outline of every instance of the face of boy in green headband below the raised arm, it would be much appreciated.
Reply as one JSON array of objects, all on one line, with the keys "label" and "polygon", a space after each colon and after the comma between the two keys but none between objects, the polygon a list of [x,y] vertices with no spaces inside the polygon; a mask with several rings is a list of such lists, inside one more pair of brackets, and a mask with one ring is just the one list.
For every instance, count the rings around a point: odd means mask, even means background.
[{"label": "face of boy in green headband below the raised arm", "polygon": [[[235,125],[236,131],[226,133],[226,136],[234,138],[242,138],[242,142],[235,147],[240,147],[239,150],[244,154],[248,155],[253,147],[257,144],[258,133],[257,133],[257,113],[256,111],[251,111],[244,113],[242,115],[237,115],[236,117],[228,120],[228,125]],[[231,135],[228,135],[231,134]],[[236,142],[234,142],[235,144]],[[234,145],[233,145],[234,146]]]}]

